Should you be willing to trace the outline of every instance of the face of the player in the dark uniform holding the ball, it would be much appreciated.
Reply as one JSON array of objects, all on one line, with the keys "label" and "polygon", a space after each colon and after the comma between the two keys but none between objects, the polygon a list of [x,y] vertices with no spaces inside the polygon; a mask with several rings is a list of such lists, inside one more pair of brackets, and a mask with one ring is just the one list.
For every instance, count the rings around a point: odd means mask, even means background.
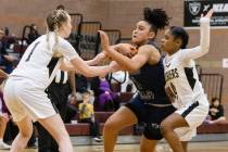
[{"label": "face of the player in the dark uniform holding the ball", "polygon": [[132,31],[132,42],[137,46],[145,45],[151,38],[151,25],[147,23],[145,21],[140,21],[136,24],[136,28]]}]

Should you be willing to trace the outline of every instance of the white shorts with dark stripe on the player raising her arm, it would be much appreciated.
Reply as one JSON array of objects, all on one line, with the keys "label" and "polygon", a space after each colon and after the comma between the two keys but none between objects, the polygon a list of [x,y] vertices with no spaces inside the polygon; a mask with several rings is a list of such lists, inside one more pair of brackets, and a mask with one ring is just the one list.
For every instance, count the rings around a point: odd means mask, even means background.
[{"label": "white shorts with dark stripe on the player raising her arm", "polygon": [[181,115],[189,127],[181,127],[175,129],[181,141],[189,141],[192,137],[197,136],[197,127],[199,127],[208,114],[208,101],[201,100],[199,102],[186,105],[177,110],[175,113]]}]

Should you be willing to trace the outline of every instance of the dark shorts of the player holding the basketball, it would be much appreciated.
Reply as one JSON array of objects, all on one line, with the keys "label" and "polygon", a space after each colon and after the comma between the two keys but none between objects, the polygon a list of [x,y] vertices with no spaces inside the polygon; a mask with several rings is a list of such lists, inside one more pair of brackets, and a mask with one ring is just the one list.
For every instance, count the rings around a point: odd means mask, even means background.
[{"label": "dark shorts of the player holding the basketball", "polygon": [[144,104],[138,97],[132,99],[131,102],[125,106],[130,109],[138,118],[138,123],[144,123],[145,127],[143,135],[150,140],[161,140],[163,138],[160,131],[160,124],[164,118],[174,113],[176,109],[170,106],[154,106],[151,104]]}]

